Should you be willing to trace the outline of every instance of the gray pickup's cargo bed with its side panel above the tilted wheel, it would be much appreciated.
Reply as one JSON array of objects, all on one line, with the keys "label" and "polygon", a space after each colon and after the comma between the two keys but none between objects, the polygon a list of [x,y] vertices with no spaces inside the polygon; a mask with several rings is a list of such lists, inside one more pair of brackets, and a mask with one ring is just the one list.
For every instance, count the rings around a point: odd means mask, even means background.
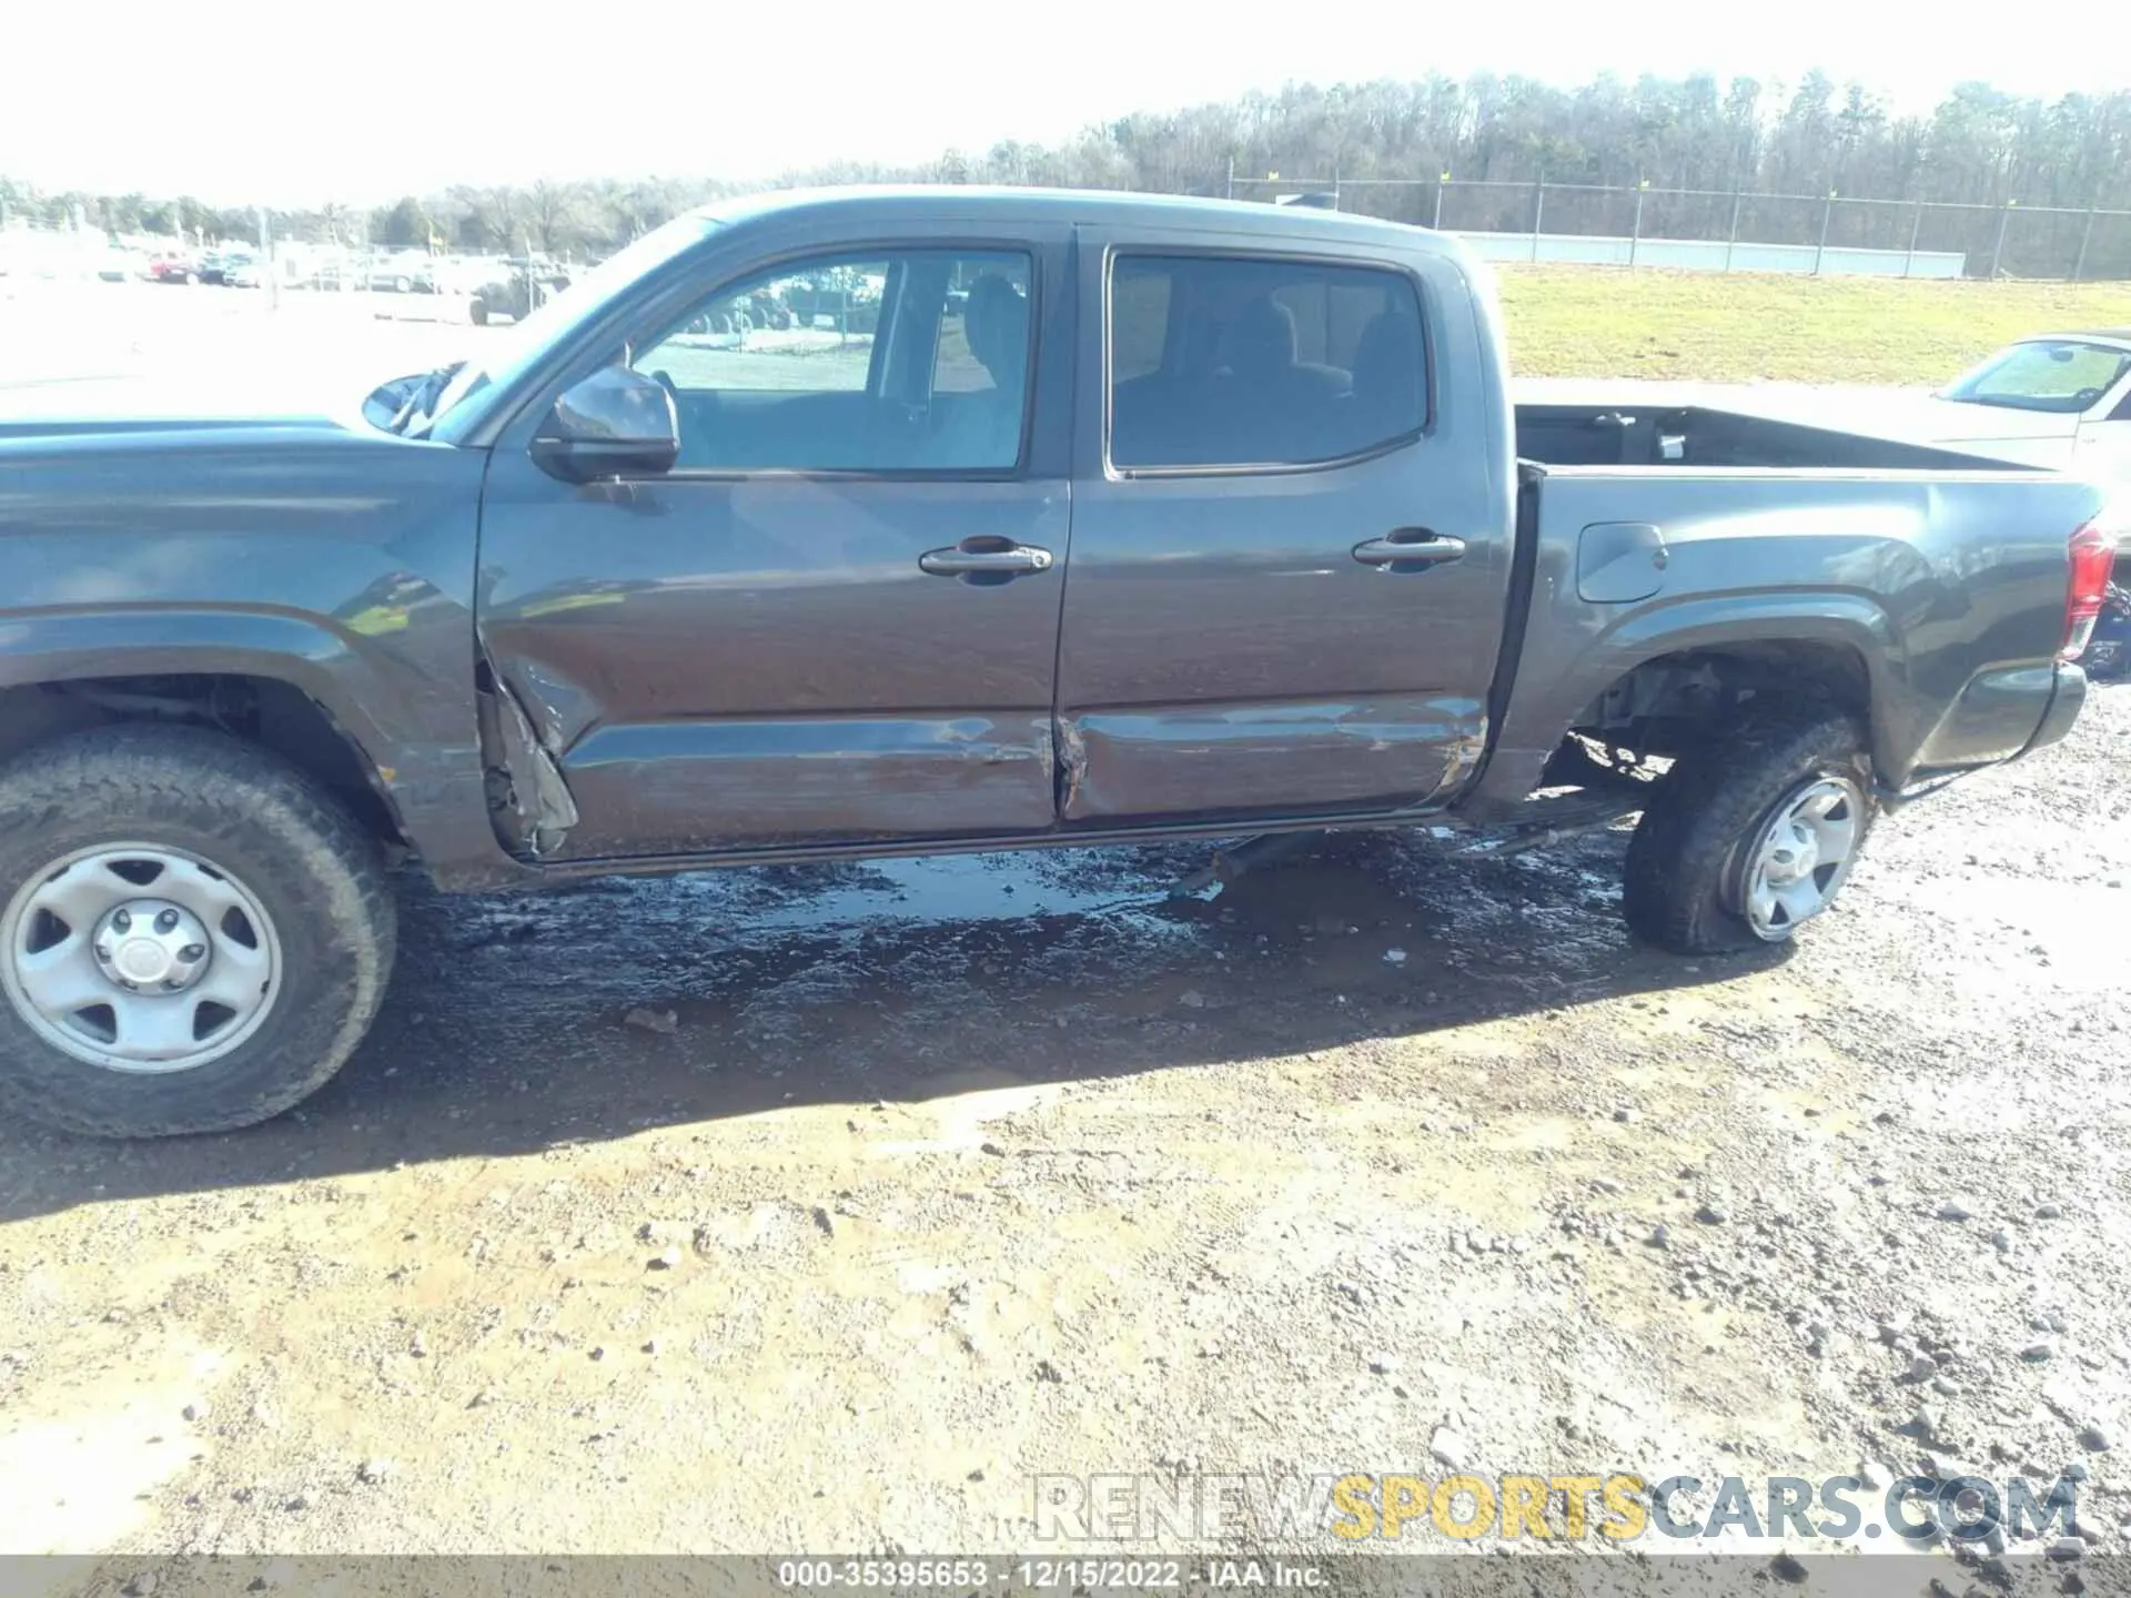
[{"label": "gray pickup's cargo bed with its side panel above the tilted wheel", "polygon": [[2050,656],[2067,539],[2097,505],[2080,479],[1694,405],[1517,405],[1515,428],[1532,599],[1470,810],[1515,803],[1564,724],[1611,714],[1590,695],[1656,656],[1758,652],[1773,682],[1841,663],[1888,790],[2012,759],[2076,712],[2084,684],[2059,712]]}]

